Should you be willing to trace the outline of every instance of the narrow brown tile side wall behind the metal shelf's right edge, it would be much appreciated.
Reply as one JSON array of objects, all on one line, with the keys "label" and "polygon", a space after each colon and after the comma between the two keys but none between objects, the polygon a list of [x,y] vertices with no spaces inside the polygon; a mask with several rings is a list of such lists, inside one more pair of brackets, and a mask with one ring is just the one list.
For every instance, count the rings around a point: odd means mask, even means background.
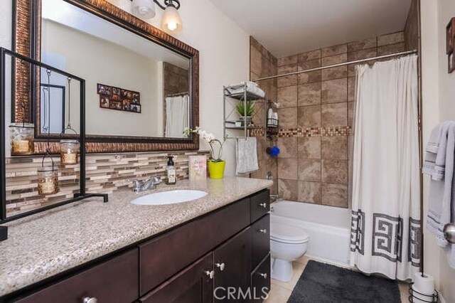
[{"label": "narrow brown tile side wall behind the metal shelf's right edge", "polygon": [[[255,80],[271,75],[277,75],[277,58],[257,42],[255,38],[250,37],[250,79]],[[259,81],[258,85],[266,92],[268,100],[277,100],[277,79]],[[264,124],[267,105],[257,105],[255,108],[259,112],[253,117],[253,122],[262,125]],[[259,119],[262,119],[262,121],[259,121]],[[277,159],[271,158],[265,152],[265,149],[271,145],[272,142],[265,139],[264,136],[257,137],[259,170],[252,173],[251,176],[252,178],[266,179],[267,173],[270,172],[274,179],[274,186],[271,188],[271,192],[274,194],[277,193]]]}]

